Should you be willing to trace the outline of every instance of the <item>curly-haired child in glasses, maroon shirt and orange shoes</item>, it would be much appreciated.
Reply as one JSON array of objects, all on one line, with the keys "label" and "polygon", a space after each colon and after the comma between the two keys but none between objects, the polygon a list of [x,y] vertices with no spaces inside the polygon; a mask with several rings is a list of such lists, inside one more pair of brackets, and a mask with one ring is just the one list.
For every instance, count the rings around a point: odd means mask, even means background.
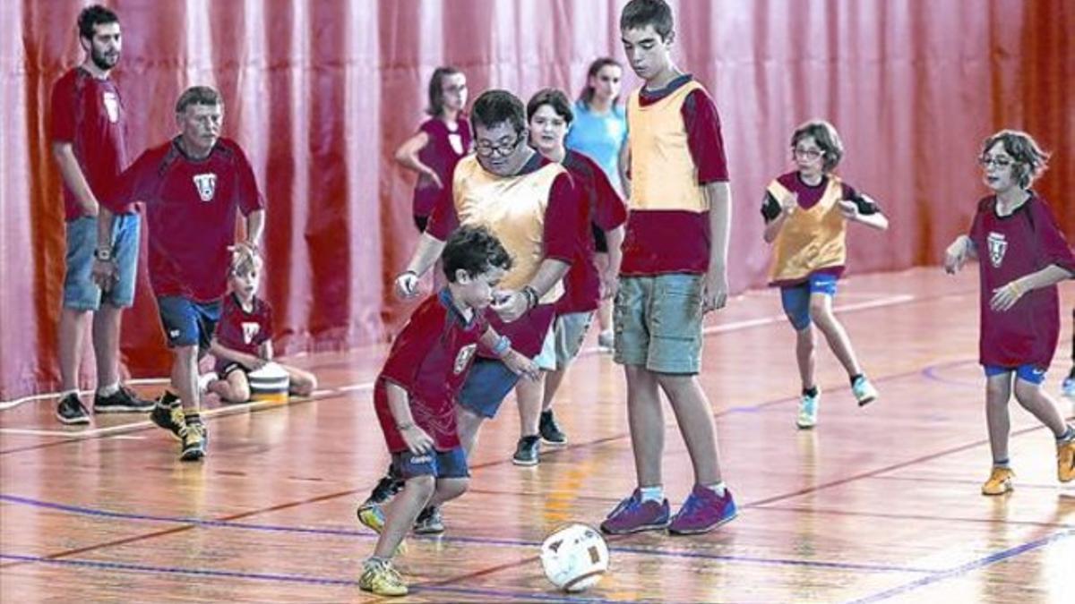
[{"label": "curly-haired child in glasses, maroon shirt and orange shoes", "polygon": [[1052,431],[1060,481],[1075,478],[1075,428],[1064,423],[1059,405],[1042,388],[1060,335],[1056,284],[1075,275],[1071,246],[1048,204],[1030,189],[1047,159],[1026,132],[1002,130],[986,139],[978,162],[993,195],[978,201],[970,234],[960,235],[945,253],[949,273],[969,258],[979,259],[979,360],[993,456],[992,472],[981,486],[987,495],[1012,490],[1007,403],[1013,389],[1019,404]]}]

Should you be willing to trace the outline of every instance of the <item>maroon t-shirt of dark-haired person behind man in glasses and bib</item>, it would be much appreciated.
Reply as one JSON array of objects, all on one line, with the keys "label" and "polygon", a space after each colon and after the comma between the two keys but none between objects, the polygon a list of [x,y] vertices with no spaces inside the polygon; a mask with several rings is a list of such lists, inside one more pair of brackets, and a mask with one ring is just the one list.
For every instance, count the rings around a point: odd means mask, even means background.
[{"label": "maroon t-shirt of dark-haired person behind man in glasses and bib", "polygon": [[[607,232],[627,221],[627,206],[612,187],[608,177],[596,161],[585,155],[568,150],[563,167],[571,173],[594,232]],[[601,302],[601,277],[593,263],[594,238],[583,241],[579,257],[571,263],[563,277],[564,293],[556,303],[556,313],[587,313],[596,311]]]}]

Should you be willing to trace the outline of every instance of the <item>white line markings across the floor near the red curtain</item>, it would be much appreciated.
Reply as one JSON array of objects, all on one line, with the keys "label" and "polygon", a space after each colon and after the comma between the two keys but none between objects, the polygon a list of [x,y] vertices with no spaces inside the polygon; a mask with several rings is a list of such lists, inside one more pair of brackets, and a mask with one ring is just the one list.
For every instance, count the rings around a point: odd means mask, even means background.
[{"label": "white line markings across the floor near the red curtain", "polygon": [[[856,302],[856,303],[852,303],[852,304],[836,305],[836,306],[833,306],[833,312],[836,312],[836,313],[850,313],[850,312],[855,312],[855,311],[865,311],[865,310],[869,310],[869,308],[878,308],[878,307],[882,307],[882,306],[893,306],[895,304],[905,304],[907,302],[911,302],[911,301],[915,300],[915,298],[916,298],[915,296],[912,296],[909,293],[903,293],[903,294],[900,294],[900,296],[887,296],[885,298],[880,298],[878,300],[871,300],[869,302]],[[727,332],[730,332],[730,331],[741,331],[741,330],[744,330],[744,329],[750,329],[752,327],[759,327],[759,326],[763,326],[763,325],[772,325],[772,323],[782,322],[782,321],[785,321],[785,320],[787,320],[787,317],[785,317],[784,315],[774,315],[774,316],[771,316],[771,317],[762,317],[762,318],[758,318],[758,319],[746,319],[746,320],[742,320],[742,321],[732,321],[732,322],[725,323],[725,325],[717,325],[717,326],[707,327],[707,328],[705,328],[705,329],[702,330],[702,333],[703,334],[713,334],[713,333],[727,333]],[[597,346],[591,346],[589,348],[586,348],[586,349],[582,350],[579,353],[579,355],[593,355],[593,354],[597,354],[597,353],[600,353],[600,351],[601,351],[601,349],[598,348]],[[149,384],[149,383],[163,383],[163,382],[167,382],[167,380],[166,379],[140,379],[140,380],[131,380],[130,383],[131,384],[135,384],[135,383]],[[328,389],[328,390],[318,390],[318,391],[314,392],[314,394],[315,396],[319,396],[319,394],[332,394],[332,393],[342,394],[344,392],[360,392],[360,391],[372,390],[372,389],[373,389],[373,383],[372,382],[361,382],[361,383],[358,383],[358,384],[350,384],[348,386],[341,386],[339,388],[333,388],[333,389]],[[27,397],[26,399],[17,399],[16,401],[13,401],[13,402],[15,404],[19,404],[18,401],[26,402],[26,401],[28,401],[30,399],[43,399],[43,398],[48,398],[48,397],[49,397],[49,394],[37,394],[34,397]],[[55,394],[52,394],[52,397],[55,397]],[[4,403],[4,404],[6,405],[9,403]],[[214,416],[217,416],[217,415],[232,415],[232,414],[244,412],[244,411],[253,411],[253,409],[258,409],[258,408],[263,408],[263,407],[269,407],[269,406],[280,406],[280,405],[281,405],[281,403],[275,403],[275,402],[240,403],[240,404],[235,404],[235,405],[228,405],[226,407],[217,407],[215,409],[204,411],[204,412],[202,412],[202,415],[206,416],[206,417],[214,417]],[[14,404],[12,404],[10,406],[14,406]],[[4,408],[9,408],[9,406],[0,406],[0,411],[2,411]],[[110,434],[112,432],[121,432],[121,431],[125,431],[125,430],[133,430],[135,428],[143,428],[143,427],[147,427],[147,426],[150,426],[150,425],[152,425],[152,422],[149,422],[149,421],[138,421],[138,422],[134,422],[134,423],[121,423],[121,425],[118,425],[118,426],[111,426],[109,428],[97,428],[97,429],[92,429],[92,430],[81,430],[78,432],[62,432],[62,431],[58,431],[58,430],[31,430],[31,429],[19,429],[19,428],[0,428],[0,434],[26,434],[26,435],[37,435],[37,436],[71,436],[71,437],[85,438],[85,437],[97,436],[97,435],[101,435],[101,434]]]}]

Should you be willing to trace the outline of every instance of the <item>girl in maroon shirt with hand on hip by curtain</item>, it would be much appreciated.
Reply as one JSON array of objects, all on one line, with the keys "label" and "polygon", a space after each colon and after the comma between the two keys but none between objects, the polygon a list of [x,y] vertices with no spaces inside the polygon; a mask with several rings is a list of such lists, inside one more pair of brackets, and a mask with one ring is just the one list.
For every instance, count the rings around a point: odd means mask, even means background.
[{"label": "girl in maroon shirt with hand on hip by curtain", "polygon": [[440,67],[429,78],[430,115],[418,131],[396,149],[396,161],[418,173],[414,184],[414,225],[426,230],[436,197],[459,158],[471,150],[470,123],[463,117],[467,76],[454,67]]}]

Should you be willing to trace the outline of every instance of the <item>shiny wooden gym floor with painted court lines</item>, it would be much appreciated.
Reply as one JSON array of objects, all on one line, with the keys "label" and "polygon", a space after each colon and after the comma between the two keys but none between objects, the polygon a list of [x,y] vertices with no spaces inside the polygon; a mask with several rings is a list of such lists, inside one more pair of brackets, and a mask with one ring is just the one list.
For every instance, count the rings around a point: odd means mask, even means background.
[{"label": "shiny wooden gym floor with painted court lines", "polygon": [[[843,282],[838,316],[882,398],[858,408],[822,345],[813,431],[793,425],[793,333],[776,292],[711,316],[701,379],[740,517],[702,536],[610,538],[611,573],[567,596],[542,575],[542,538],[567,521],[597,524],[634,487],[622,372],[588,348],[556,407],[571,443],[536,468],[512,465],[507,401],[484,429],[471,491],[445,508],[447,532],[410,540],[407,601],[1072,602],[1075,485],[1059,486],[1051,434],[1014,401],[1015,492],[978,493],[990,458],[977,289],[973,267]],[[1061,293],[1070,310],[1075,286]],[[1067,313],[1054,393],[1070,366]],[[374,536],[355,505],[388,459],[370,393],[384,353],[292,359],[320,377],[311,401],[213,399],[202,463],[180,463],[144,416],[69,429],[52,400],[0,412],[0,601],[379,600],[358,589]],[[665,422],[675,507],[690,463],[671,413]]]}]

